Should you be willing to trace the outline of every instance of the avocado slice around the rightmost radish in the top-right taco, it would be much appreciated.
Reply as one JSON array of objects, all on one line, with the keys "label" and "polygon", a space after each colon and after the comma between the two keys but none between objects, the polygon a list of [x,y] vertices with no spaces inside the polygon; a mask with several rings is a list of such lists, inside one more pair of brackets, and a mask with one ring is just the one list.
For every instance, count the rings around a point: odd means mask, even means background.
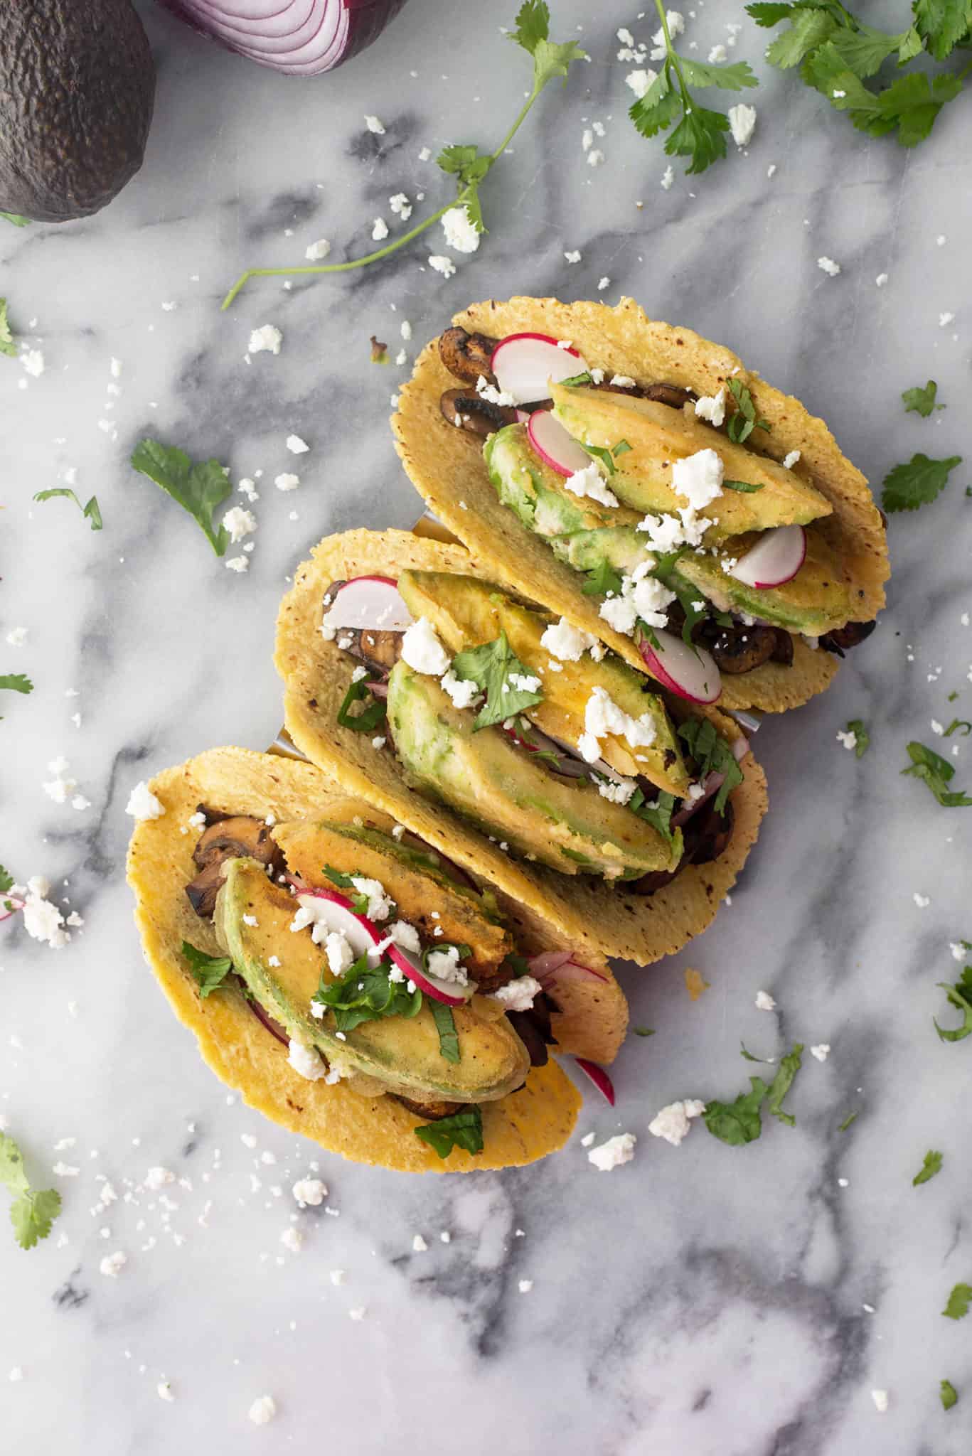
[{"label": "avocado slice around the rightmost radish in the top-right taco", "polygon": [[[804,527],[806,530],[806,527]],[[806,530],[807,553],[796,577],[781,587],[748,587],[721,568],[721,561],[739,561],[758,536],[726,542],[720,556],[679,558],[678,574],[721,612],[745,613],[788,632],[820,636],[844,626],[851,616],[851,596],[839,563],[819,531]]]}]

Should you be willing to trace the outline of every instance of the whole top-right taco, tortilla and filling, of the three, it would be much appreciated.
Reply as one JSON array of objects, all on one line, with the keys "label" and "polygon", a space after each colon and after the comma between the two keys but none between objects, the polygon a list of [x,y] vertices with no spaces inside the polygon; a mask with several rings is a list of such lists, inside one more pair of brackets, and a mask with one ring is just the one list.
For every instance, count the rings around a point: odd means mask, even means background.
[{"label": "whole top-right taco, tortilla and filling, of the three", "polygon": [[392,428],[494,579],[689,699],[797,706],[885,604],[883,520],[823,421],[631,298],[474,304]]}]

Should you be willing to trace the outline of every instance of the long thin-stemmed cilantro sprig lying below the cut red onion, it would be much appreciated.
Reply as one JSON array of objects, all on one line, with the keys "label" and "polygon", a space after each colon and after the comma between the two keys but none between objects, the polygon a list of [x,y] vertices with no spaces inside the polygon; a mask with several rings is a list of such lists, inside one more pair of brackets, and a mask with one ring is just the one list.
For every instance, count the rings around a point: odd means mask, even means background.
[{"label": "long thin-stemmed cilantro sprig lying below the cut red onion", "polygon": [[482,220],[482,202],[479,199],[481,183],[485,181],[487,175],[493,170],[516,132],[526,121],[541,92],[558,77],[563,77],[565,82],[570,67],[576,61],[586,61],[589,58],[586,51],[581,51],[576,41],[551,41],[549,9],[544,0],[525,0],[517,12],[516,23],[509,32],[509,38],[514,42],[514,45],[519,45],[528,52],[528,55],[532,57],[533,84],[526,96],[526,100],[520,106],[513,125],[495,151],[479,151],[475,144],[453,144],[444,147],[439,153],[436,162],[440,170],[447,176],[455,178],[455,198],[444,202],[430,217],[423,218],[423,221],[409,229],[409,232],[402,233],[401,237],[395,237],[391,243],[386,243],[385,248],[366,253],[363,258],[351,258],[342,264],[315,264],[297,268],[248,268],[246,272],[240,274],[223,298],[223,309],[229,309],[240,288],[246,287],[251,278],[275,278],[280,275],[293,278],[297,275],[306,277],[309,274],[348,272],[353,268],[367,268],[369,264],[380,262],[382,258],[388,258],[391,253],[398,252],[399,248],[405,248],[412,242],[412,239],[433,227],[433,224],[453,207],[465,208],[475,230],[478,233],[485,233],[487,226]]}]

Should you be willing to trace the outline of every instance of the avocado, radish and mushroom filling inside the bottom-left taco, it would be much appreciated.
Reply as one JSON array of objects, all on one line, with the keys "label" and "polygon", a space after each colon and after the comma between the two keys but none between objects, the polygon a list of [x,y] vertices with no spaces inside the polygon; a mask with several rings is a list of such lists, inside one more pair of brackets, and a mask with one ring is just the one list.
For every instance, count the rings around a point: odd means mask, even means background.
[{"label": "avocado, radish and mushroom filling inside the bottom-left taco", "polygon": [[520,957],[459,866],[350,810],[274,824],[200,805],[195,821],[185,895],[224,952],[182,942],[201,996],[242,996],[300,1077],[395,1098],[440,1158],[479,1152],[481,1104],[548,1060],[570,952]]}]

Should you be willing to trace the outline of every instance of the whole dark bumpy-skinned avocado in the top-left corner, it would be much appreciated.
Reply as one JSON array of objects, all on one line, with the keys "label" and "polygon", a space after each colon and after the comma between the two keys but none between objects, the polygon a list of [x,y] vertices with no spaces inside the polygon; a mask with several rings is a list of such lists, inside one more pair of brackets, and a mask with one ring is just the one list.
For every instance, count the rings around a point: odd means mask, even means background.
[{"label": "whole dark bumpy-skinned avocado in the top-left corner", "polygon": [[0,211],[98,213],[138,167],[156,71],[130,0],[0,0]]}]

